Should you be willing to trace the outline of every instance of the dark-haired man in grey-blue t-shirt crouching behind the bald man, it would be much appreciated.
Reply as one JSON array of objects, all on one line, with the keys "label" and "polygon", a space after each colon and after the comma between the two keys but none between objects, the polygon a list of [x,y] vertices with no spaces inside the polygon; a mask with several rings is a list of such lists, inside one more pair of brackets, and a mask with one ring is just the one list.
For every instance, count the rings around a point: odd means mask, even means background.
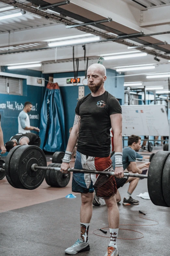
[{"label": "dark-haired man in grey-blue t-shirt crouching behind the bald man", "polygon": [[[131,135],[128,138],[128,147],[123,148],[123,156],[122,156],[122,163],[123,163],[123,170],[127,169],[127,171],[132,173],[139,173],[139,174],[146,174],[142,172],[141,169],[149,168],[150,162],[145,162],[140,165],[136,165],[136,152],[139,151],[141,148],[141,137],[136,135]],[[111,157],[113,169],[115,169],[115,154]],[[146,170],[145,170],[146,171]],[[117,194],[116,194],[116,202],[119,203],[121,201],[121,196],[119,193],[119,188],[123,187],[125,183],[130,182],[128,191],[126,196],[123,199],[123,205],[137,205],[139,204],[138,200],[132,198],[132,193],[134,192],[139,178],[136,177],[124,177],[122,179],[117,179],[115,177],[116,184],[117,184]],[[96,195],[93,199],[93,205],[100,206],[99,197]]]}]

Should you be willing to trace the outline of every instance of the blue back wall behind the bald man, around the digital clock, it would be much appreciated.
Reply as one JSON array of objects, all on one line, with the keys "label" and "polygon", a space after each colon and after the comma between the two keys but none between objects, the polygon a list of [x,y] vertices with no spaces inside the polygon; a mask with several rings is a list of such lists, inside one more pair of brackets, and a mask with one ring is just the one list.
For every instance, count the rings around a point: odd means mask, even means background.
[{"label": "blue back wall behind the bald man, around the digital clock", "polygon": [[[116,98],[120,99],[120,104],[124,104],[124,77],[114,77],[117,72],[112,69],[106,69],[106,82],[105,89]],[[84,71],[78,72],[78,77],[84,76]],[[57,73],[54,78],[61,77],[74,77],[73,72]],[[60,84],[59,84],[60,86]],[[69,138],[69,129],[73,126],[75,117],[75,108],[78,102],[78,85],[77,86],[61,86],[60,87],[63,105],[64,105],[64,118],[65,118],[65,134],[66,141]],[[88,86],[85,86],[85,95],[90,93]]]}]

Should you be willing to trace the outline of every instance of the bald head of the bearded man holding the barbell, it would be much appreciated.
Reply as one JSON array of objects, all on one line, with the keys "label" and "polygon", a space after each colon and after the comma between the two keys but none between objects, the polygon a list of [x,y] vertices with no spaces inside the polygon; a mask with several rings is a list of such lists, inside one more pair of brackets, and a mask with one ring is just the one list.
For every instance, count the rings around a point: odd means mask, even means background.
[{"label": "bald head of the bearded man holding the barbell", "polygon": [[106,68],[101,64],[92,64],[87,70],[87,84],[92,93],[104,87]]}]

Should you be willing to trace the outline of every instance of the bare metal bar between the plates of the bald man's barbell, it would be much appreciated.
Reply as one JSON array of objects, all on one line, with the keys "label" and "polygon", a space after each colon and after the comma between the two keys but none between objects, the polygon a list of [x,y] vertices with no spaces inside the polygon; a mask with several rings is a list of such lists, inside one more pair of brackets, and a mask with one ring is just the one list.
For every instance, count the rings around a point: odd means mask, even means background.
[{"label": "bare metal bar between the plates of the bald man's barbell", "polygon": [[[31,166],[31,169],[33,171],[36,170],[54,170],[54,171],[60,171],[60,167],[45,167],[45,166],[38,166],[36,163],[34,163]],[[81,170],[81,169],[68,169],[68,172],[77,172],[77,173],[92,173],[92,174],[101,174],[101,175],[114,175],[114,172],[105,172],[105,171],[93,171],[93,170]],[[123,173],[124,177],[135,177],[135,178],[148,178],[148,175],[144,174],[138,174],[138,173]]]}]

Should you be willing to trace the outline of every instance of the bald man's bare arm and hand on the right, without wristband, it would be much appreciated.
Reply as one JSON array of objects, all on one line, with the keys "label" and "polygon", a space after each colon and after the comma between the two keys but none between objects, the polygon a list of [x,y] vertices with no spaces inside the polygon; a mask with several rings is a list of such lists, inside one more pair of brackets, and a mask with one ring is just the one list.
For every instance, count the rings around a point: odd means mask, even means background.
[{"label": "bald man's bare arm and hand on the right, without wristband", "polygon": [[[122,152],[122,114],[112,114],[110,115],[111,127],[114,134],[114,148],[115,152]],[[123,166],[115,167],[116,178],[122,178]]]}]

